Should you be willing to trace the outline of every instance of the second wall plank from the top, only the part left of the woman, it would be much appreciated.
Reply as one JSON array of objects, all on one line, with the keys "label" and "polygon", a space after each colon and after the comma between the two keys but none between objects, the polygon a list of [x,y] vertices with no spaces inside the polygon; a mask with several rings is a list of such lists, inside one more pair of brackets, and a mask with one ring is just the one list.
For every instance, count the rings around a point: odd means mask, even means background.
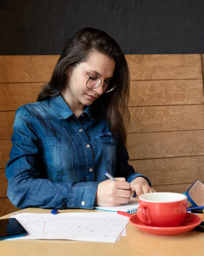
[{"label": "second wall plank from the top, only the part left of the woman", "polygon": [[36,102],[44,83],[0,84],[0,111],[17,110],[20,106]]}]

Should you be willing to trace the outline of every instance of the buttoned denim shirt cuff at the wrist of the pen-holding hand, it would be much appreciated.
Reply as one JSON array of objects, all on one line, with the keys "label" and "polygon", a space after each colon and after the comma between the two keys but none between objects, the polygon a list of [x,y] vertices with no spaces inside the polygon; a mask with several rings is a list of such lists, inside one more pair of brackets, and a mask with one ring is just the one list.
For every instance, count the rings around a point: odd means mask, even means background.
[{"label": "buttoned denim shirt cuff at the wrist of the pen-holding hand", "polygon": [[80,182],[72,186],[70,208],[93,209],[99,182]]}]

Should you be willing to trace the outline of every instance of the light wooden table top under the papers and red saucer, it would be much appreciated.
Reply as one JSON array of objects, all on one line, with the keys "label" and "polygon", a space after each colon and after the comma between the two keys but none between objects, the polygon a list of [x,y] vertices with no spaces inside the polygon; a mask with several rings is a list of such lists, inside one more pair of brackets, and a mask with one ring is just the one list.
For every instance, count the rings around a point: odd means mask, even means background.
[{"label": "light wooden table top under the papers and red saucer", "polygon": [[[97,212],[98,210],[92,210]],[[49,209],[28,208],[21,212],[49,213]],[[67,209],[60,212],[89,212]],[[200,215],[202,217],[202,215]],[[0,241],[0,256],[201,256],[204,250],[204,233],[192,230],[175,237],[149,236],[127,225],[127,236],[116,243],[82,242],[69,240],[16,240]]]}]

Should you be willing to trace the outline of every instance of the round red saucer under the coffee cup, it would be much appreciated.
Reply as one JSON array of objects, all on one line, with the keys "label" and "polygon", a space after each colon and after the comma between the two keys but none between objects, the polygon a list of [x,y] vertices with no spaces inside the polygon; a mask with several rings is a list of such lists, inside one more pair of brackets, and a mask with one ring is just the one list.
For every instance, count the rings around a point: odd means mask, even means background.
[{"label": "round red saucer under the coffee cup", "polygon": [[143,224],[137,214],[132,215],[129,218],[129,223],[137,227],[139,230],[154,236],[178,236],[193,230],[194,227],[201,224],[201,218],[198,215],[188,213],[184,218],[184,221],[178,227],[152,227]]}]

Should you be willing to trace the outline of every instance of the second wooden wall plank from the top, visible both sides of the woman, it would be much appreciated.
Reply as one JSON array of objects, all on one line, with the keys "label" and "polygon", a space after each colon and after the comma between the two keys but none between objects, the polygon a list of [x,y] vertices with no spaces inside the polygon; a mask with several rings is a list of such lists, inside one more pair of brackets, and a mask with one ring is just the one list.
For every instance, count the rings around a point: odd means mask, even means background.
[{"label": "second wooden wall plank from the top, visible both sides of the woman", "polygon": [[[45,83],[0,84],[0,111],[17,110],[26,103],[35,102],[43,84]],[[129,106],[203,103],[203,83],[201,79],[131,81]]]}]

